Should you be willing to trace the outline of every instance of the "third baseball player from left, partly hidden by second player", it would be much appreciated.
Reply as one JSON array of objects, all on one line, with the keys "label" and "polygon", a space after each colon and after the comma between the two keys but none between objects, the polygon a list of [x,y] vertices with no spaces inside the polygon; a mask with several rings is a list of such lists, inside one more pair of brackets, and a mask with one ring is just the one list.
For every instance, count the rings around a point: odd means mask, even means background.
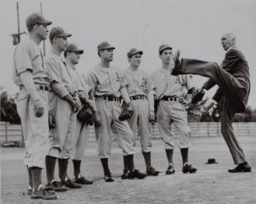
[{"label": "third baseball player from left, partly hidden by second player", "polygon": [[[79,98],[82,103],[88,102],[94,110],[96,110],[96,103],[92,98],[92,88],[88,85],[85,74],[76,69],[76,64],[79,63],[80,55],[84,51],[79,49],[75,44],[69,44],[64,52],[65,61],[70,69],[76,73],[74,83],[78,89]],[[84,156],[85,148],[88,144],[89,126],[74,117],[74,138],[75,148],[72,152],[73,166],[74,166],[74,181],[78,184],[93,184],[85,177],[81,176],[81,159]]]}]

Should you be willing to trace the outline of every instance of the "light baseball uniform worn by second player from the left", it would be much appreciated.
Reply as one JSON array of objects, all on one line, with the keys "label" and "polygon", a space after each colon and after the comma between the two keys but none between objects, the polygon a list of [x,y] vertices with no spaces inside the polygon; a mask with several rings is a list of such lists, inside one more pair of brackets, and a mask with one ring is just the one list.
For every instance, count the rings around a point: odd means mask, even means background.
[{"label": "light baseball uniform worn by second player from the left", "polygon": [[74,148],[74,110],[62,97],[68,94],[75,95],[77,91],[74,84],[75,73],[60,56],[53,52],[49,53],[45,63],[51,82],[56,81],[64,87],[58,95],[52,93],[50,97],[50,108],[56,118],[56,127],[50,131],[51,148],[48,155],[68,159]]}]

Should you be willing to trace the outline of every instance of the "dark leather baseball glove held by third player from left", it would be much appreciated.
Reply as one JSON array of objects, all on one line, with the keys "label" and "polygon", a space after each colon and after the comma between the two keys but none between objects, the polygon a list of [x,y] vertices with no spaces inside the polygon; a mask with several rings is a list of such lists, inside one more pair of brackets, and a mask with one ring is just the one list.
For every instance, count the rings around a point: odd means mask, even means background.
[{"label": "dark leather baseball glove held by third player from left", "polygon": [[93,125],[95,120],[95,111],[92,109],[91,106],[88,105],[87,102],[85,102],[85,106],[82,107],[82,109],[78,112],[78,120],[80,120],[82,123],[85,123],[86,125]]}]

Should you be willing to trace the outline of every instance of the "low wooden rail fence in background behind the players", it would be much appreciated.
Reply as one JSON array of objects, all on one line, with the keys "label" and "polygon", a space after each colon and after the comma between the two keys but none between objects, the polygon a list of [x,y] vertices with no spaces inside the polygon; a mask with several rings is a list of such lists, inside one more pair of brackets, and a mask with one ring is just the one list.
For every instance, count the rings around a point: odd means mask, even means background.
[{"label": "low wooden rail fence in background behind the players", "polygon": [[[23,143],[22,131],[20,125],[13,125],[5,122],[0,123],[0,143],[5,144],[10,141]],[[220,137],[220,123],[189,123],[192,138],[200,137]],[[256,123],[233,123],[235,134],[237,136],[256,136]],[[157,123],[151,125],[153,138],[160,138]],[[173,131],[177,134],[175,127]],[[90,128],[90,141],[95,140],[94,128]]]}]

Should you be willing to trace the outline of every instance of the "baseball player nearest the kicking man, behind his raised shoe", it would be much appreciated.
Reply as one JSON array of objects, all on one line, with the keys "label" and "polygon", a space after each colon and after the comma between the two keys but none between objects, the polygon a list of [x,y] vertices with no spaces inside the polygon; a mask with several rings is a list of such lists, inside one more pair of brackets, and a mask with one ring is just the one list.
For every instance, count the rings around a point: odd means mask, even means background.
[{"label": "baseball player nearest the kicking man, behind his raised shoe", "polygon": [[[187,102],[182,96],[184,91],[182,88],[186,87],[188,93],[192,94],[193,86],[187,75],[179,77],[170,75],[170,69],[174,66],[171,50],[170,45],[160,45],[159,57],[162,67],[154,71],[151,76],[153,84],[156,86],[154,88],[156,98],[160,100],[157,107],[157,123],[169,163],[166,174],[175,173],[172,159],[175,145],[181,150],[182,172],[184,174],[196,173],[197,169],[188,163],[190,128],[185,108]],[[171,130],[172,123],[178,131],[177,136]]]}]

